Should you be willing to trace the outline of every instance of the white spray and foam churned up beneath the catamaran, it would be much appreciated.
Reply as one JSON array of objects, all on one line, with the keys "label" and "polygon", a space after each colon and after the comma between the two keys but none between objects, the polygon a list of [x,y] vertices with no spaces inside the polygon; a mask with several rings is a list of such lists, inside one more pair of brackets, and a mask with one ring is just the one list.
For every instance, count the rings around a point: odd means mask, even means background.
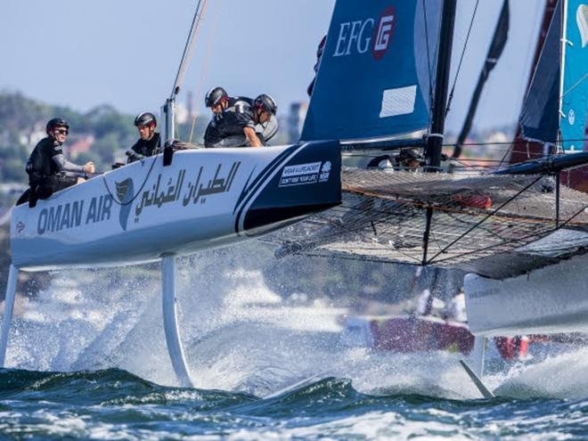
[{"label": "white spray and foam churned up beneath the catamaran", "polygon": [[[313,293],[282,298],[265,284],[260,268],[269,265],[271,249],[259,242],[179,261],[179,323],[196,388],[268,396],[320,373],[350,379],[372,395],[479,397],[459,355],[342,346],[347,308],[307,300]],[[586,397],[586,351],[519,365],[485,381],[501,396]],[[14,317],[7,365],[60,372],[116,367],[176,386],[162,326],[159,265],[53,274],[50,287],[24,300],[23,313]]]}]

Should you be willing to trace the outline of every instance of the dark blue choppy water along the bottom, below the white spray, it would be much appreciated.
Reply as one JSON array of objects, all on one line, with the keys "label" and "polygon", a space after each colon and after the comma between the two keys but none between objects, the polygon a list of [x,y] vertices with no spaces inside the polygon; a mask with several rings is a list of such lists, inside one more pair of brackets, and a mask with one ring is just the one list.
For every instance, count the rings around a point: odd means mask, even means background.
[{"label": "dark blue choppy water along the bottom, below the white spray", "polygon": [[4,371],[4,437],[585,439],[588,401],[373,396],[326,378],[272,398],[158,386],[125,371]]}]

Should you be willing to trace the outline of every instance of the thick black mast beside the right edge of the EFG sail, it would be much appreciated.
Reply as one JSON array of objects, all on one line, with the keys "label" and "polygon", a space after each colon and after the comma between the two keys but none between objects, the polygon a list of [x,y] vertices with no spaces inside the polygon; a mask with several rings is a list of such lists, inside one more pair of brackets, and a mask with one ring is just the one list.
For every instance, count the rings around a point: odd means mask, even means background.
[{"label": "thick black mast beside the right edge of the EFG sail", "polygon": [[455,7],[457,0],[445,0],[439,37],[439,53],[437,54],[437,79],[435,82],[435,102],[433,103],[433,124],[425,150],[429,172],[436,172],[441,165],[445,130],[445,106],[451,69],[451,53],[453,47],[453,27],[455,24]]}]

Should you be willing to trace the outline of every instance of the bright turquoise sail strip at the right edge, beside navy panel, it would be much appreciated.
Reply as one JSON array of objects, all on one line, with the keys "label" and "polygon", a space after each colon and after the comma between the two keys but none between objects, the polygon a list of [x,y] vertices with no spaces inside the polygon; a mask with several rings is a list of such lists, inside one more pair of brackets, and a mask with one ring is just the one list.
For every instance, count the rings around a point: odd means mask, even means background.
[{"label": "bright turquoise sail strip at the right edge, beside navy panel", "polygon": [[588,2],[568,0],[560,129],[567,152],[585,150],[588,118]]}]

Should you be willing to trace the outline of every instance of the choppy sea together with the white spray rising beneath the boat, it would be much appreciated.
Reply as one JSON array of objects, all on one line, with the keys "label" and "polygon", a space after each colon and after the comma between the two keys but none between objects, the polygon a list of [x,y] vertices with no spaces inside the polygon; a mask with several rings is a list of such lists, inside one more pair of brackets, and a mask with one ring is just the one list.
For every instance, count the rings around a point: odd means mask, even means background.
[{"label": "choppy sea together with the white spray rising beneath the boat", "polygon": [[241,253],[180,265],[194,388],[177,386],[167,356],[157,273],[53,274],[37,298],[20,297],[0,437],[588,439],[584,347],[491,366],[497,397],[484,400],[458,355],[342,346],[345,308],[278,296],[240,269],[252,255]]}]

